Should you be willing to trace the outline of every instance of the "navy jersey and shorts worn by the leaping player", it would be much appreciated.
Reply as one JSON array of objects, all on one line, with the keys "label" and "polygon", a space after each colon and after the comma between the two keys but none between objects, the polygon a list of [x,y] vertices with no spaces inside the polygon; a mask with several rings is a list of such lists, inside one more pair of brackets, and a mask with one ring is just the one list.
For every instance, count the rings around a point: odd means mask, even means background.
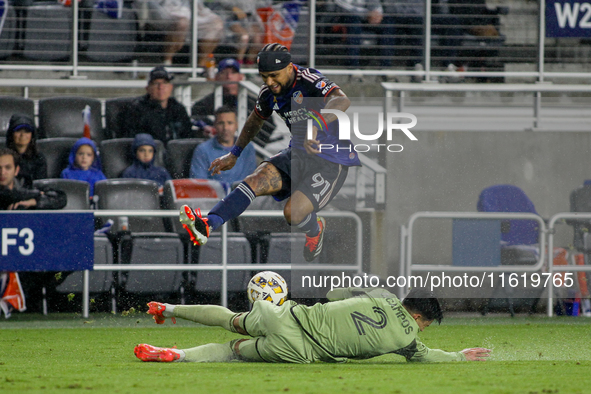
[{"label": "navy jersey and shorts worn by the leaping player", "polygon": [[[291,196],[292,190],[300,190],[319,210],[338,193],[348,167],[361,163],[351,141],[339,140],[338,122],[327,124],[320,113],[327,97],[339,87],[315,69],[294,65],[294,71],[296,78],[285,94],[275,96],[263,85],[254,111],[265,120],[275,111],[291,131],[289,148],[267,160],[283,177],[283,188],[274,197],[282,200]],[[304,148],[308,119],[318,128],[316,139],[322,151],[317,155]],[[329,146],[332,148],[326,148]]]}]

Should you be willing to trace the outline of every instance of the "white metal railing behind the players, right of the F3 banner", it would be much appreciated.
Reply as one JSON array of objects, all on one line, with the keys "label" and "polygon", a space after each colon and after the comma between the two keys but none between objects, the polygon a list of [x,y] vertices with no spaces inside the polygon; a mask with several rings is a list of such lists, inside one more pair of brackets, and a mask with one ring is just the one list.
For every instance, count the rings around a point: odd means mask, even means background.
[{"label": "white metal railing behind the players, right of the F3 banner", "polygon": [[[204,211],[205,212],[205,211]],[[113,216],[143,216],[143,217],[178,217],[177,211],[118,211],[118,210],[97,210],[93,211],[95,217],[113,217]],[[221,227],[222,240],[222,261],[220,264],[182,264],[182,265],[158,265],[158,264],[97,264],[94,265],[95,271],[221,271],[222,287],[221,297],[222,306],[228,306],[228,271],[236,270],[309,270],[309,271],[331,271],[331,270],[351,270],[362,273],[363,270],[363,225],[361,219],[353,212],[345,211],[323,211],[322,216],[334,218],[350,218],[355,222],[355,244],[356,251],[353,264],[228,264],[228,229],[227,225]],[[281,211],[246,211],[241,217],[283,217]],[[82,289],[82,315],[88,317],[89,314],[89,271],[85,270],[83,274]]]}]

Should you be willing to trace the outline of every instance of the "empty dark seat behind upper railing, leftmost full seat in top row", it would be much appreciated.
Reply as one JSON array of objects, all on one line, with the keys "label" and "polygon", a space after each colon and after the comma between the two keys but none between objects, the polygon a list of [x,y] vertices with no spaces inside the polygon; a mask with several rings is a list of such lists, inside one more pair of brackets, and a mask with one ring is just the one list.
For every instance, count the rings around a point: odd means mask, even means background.
[{"label": "empty dark seat behind upper railing, leftmost full seat in top row", "polygon": [[39,2],[26,9],[23,56],[56,61],[72,53],[72,9],[56,2]]}]

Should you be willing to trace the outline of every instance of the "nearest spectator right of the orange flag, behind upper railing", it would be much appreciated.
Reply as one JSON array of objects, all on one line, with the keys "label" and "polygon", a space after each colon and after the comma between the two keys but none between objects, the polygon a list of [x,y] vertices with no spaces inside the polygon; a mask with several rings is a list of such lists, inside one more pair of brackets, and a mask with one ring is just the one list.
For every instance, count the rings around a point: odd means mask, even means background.
[{"label": "nearest spectator right of the orange flag, behind upper railing", "polygon": [[335,23],[346,29],[347,60],[345,65],[359,68],[361,32],[363,24],[379,25],[383,19],[380,0],[335,0]]}]

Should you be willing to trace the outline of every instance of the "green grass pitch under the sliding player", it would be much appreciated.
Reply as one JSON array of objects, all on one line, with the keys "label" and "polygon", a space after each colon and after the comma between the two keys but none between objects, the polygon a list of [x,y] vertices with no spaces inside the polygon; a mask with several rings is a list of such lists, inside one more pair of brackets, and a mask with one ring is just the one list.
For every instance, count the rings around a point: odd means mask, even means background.
[{"label": "green grass pitch under the sliding player", "polygon": [[143,363],[133,347],[193,347],[237,337],[144,313],[14,314],[0,322],[1,393],[591,393],[591,319],[446,318],[422,333],[431,348],[494,349],[487,362],[407,363],[386,355],[345,364]]}]

